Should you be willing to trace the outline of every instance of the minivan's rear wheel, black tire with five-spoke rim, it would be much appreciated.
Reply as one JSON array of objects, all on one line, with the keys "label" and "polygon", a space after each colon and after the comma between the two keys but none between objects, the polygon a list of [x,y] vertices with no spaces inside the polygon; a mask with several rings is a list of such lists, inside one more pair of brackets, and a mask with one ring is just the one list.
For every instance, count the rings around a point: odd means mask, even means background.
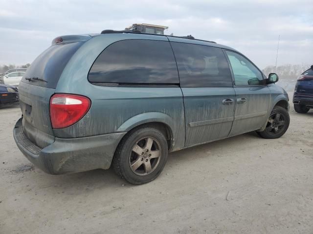
[{"label": "minivan's rear wheel, black tire with five-spoke rim", "polygon": [[166,138],[161,131],[148,126],[135,129],[122,139],[112,167],[127,182],[139,185],[154,180],[162,172],[167,156]]}]

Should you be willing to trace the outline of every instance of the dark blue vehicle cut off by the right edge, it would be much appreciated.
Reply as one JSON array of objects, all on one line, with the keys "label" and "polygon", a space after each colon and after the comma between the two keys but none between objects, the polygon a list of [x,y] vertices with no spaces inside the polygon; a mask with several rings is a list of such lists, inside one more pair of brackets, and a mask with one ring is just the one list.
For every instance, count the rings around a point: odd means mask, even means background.
[{"label": "dark blue vehicle cut off by the right edge", "polygon": [[297,79],[293,93],[293,107],[298,113],[307,113],[313,108],[313,65]]}]

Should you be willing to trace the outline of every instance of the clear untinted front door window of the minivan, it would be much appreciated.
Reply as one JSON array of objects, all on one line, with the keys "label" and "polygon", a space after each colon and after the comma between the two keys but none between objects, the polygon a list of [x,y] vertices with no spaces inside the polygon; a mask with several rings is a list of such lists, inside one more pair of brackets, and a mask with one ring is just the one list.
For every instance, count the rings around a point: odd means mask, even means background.
[{"label": "clear untinted front door window of the minivan", "polygon": [[235,85],[262,85],[262,73],[245,57],[226,51],[234,73]]}]

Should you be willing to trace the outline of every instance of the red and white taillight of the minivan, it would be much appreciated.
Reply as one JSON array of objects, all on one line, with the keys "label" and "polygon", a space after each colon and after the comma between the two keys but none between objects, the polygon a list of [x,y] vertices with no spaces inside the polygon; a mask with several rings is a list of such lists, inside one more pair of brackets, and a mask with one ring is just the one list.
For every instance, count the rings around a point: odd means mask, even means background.
[{"label": "red and white taillight of the minivan", "polygon": [[50,119],[52,128],[66,128],[89,111],[90,99],[73,94],[55,94],[50,99]]}]

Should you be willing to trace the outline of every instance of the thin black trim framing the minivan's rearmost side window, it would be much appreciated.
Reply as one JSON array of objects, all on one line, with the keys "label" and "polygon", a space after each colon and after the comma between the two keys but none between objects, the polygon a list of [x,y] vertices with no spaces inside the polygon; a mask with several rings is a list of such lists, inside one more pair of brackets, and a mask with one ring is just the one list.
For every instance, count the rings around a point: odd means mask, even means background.
[{"label": "thin black trim framing the minivan's rearmost side window", "polygon": [[[125,40],[152,40],[152,41],[166,41],[169,43],[170,47],[171,47],[171,51],[173,53],[174,56],[174,60],[175,60],[175,64],[176,64],[176,70],[177,70],[177,76],[178,76],[178,83],[168,83],[168,84],[164,84],[164,83],[124,83],[124,82],[93,82],[89,80],[89,73],[91,68],[93,67],[94,63],[96,62],[96,60],[100,57],[100,55],[111,45],[115,44],[116,42],[120,42],[120,41],[125,41]],[[180,80],[179,80],[179,72],[178,72],[178,67],[177,67],[177,61],[176,61],[176,57],[171,45],[171,42],[169,41],[168,38],[166,38],[166,40],[156,40],[156,39],[122,39],[122,40],[116,40],[114,42],[112,42],[111,44],[109,44],[107,47],[105,47],[100,54],[97,56],[97,58],[93,61],[93,63],[91,64],[88,74],[87,74],[87,80],[90,84],[93,85],[97,85],[97,86],[106,86],[106,87],[160,87],[160,88],[173,88],[173,87],[180,87]]]}]

